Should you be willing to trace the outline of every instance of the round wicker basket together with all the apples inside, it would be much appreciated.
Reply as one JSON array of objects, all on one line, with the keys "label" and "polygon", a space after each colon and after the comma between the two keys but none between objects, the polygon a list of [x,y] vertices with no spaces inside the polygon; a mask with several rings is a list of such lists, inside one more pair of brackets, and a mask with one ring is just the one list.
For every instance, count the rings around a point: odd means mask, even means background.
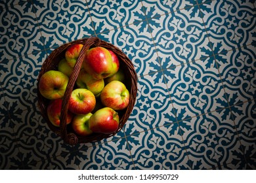
[{"label": "round wicker basket together with all the apples inside", "polygon": [[137,73],[119,48],[97,37],[63,44],[43,62],[38,107],[67,144],[112,137],[135,105]]}]

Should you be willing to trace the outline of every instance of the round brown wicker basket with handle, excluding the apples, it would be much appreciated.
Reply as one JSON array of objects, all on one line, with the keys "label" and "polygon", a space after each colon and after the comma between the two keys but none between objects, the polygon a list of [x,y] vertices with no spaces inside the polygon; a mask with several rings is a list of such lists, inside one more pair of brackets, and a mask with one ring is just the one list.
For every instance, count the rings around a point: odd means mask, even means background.
[{"label": "round brown wicker basket with handle, excluding the apples", "polygon": [[[62,46],[56,48],[47,59],[45,59],[41,71],[39,73],[39,76],[37,78],[37,88],[38,83],[41,78],[41,76],[50,70],[56,70],[58,62],[64,58],[65,52],[67,48],[73,44],[83,44],[83,48],[79,54],[79,58],[77,59],[77,62],[75,63],[74,70],[72,72],[72,75],[70,76],[68,86],[66,88],[66,92],[64,94],[63,102],[62,102],[62,109],[61,109],[61,116],[60,116],[60,127],[56,127],[49,121],[49,118],[47,116],[47,106],[49,104],[49,99],[45,99],[39,90],[37,90],[37,97],[38,97],[38,107],[39,110],[41,110],[41,114],[46,120],[47,124],[49,125],[49,128],[56,133],[56,135],[62,137],[64,142],[67,144],[77,144],[77,143],[86,143],[86,142],[96,142],[100,141],[102,139],[106,139],[108,137],[112,137],[115,135],[118,131],[121,130],[123,125],[127,122],[129,115],[131,114],[131,111],[133,110],[133,107],[135,105],[136,95],[137,95],[137,73],[135,72],[135,68],[133,66],[133,63],[131,60],[123,54],[119,48],[114,46],[113,44],[110,44],[106,41],[102,41],[98,39],[97,37],[90,37],[87,39],[80,39],[77,41],[72,41],[67,44],[63,44]],[[72,130],[72,127],[69,125],[66,125],[66,119],[67,119],[67,113],[68,113],[68,100],[70,98],[70,95],[72,93],[72,90],[74,90],[75,86],[75,80],[77,79],[77,76],[79,74],[79,71],[81,69],[81,65],[83,63],[85,52],[89,50],[89,48],[93,48],[95,46],[102,46],[104,48],[107,48],[109,50],[112,50],[117,57],[119,58],[119,65],[120,68],[123,69],[125,72],[125,86],[130,92],[130,101],[127,108],[124,110],[119,110],[119,127],[117,131],[115,131],[112,134],[101,134],[101,133],[93,133],[92,135],[82,137],[78,136],[74,133]]]}]

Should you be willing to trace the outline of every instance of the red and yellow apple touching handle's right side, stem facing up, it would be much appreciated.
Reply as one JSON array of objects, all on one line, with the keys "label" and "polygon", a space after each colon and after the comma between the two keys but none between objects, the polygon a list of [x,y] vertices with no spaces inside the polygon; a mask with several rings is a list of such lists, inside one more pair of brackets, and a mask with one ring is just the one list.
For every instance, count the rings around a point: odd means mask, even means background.
[{"label": "red and yellow apple touching handle's right side, stem facing up", "polygon": [[88,114],[95,108],[95,95],[85,88],[77,88],[72,91],[68,101],[68,109],[74,114]]}]

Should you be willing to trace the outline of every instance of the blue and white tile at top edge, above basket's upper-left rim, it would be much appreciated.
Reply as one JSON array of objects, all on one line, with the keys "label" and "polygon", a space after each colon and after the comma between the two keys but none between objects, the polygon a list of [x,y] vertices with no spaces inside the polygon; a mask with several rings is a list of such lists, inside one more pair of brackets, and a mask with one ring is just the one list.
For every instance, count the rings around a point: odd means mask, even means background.
[{"label": "blue and white tile at top edge, above basket's upper-left rim", "polygon": [[95,35],[85,1],[35,1],[33,5],[45,48]]}]

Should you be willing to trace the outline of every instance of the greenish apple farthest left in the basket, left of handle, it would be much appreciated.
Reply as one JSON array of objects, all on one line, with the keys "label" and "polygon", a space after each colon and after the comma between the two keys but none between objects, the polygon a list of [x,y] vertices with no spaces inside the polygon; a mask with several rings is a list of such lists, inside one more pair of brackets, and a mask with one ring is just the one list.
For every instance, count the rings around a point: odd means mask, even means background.
[{"label": "greenish apple farthest left in the basket, left of handle", "polygon": [[38,90],[46,99],[61,99],[68,85],[68,76],[60,71],[47,71],[40,80]]}]

